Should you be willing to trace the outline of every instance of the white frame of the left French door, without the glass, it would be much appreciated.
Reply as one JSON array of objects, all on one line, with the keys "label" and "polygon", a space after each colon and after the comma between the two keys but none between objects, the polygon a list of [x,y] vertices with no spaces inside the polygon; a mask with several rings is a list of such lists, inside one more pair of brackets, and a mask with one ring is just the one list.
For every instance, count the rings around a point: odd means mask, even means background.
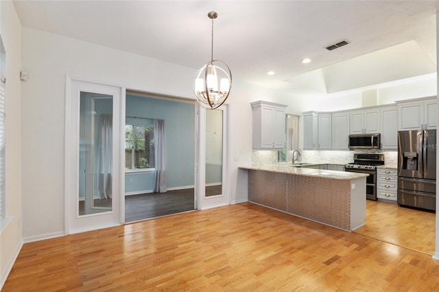
[{"label": "white frame of the left French door, without the glass", "polygon": [[[78,77],[65,78],[65,122],[64,122],[64,234],[73,234],[119,226],[124,223],[125,177],[123,175],[123,130],[125,129],[125,93],[126,88],[94,82]],[[77,90],[72,94],[72,90]],[[93,215],[78,215],[79,197],[79,114],[81,91],[112,95],[113,153],[112,153],[112,210]],[[76,117],[74,115],[76,114]],[[76,212],[76,213],[75,213]]]}]

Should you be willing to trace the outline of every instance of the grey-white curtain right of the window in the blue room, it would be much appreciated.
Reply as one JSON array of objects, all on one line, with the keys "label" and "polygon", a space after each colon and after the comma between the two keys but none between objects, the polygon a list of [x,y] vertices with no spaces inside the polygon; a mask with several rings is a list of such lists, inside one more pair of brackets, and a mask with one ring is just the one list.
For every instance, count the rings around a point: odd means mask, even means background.
[{"label": "grey-white curtain right of the window in the blue room", "polygon": [[165,121],[154,119],[154,193],[167,191]]}]

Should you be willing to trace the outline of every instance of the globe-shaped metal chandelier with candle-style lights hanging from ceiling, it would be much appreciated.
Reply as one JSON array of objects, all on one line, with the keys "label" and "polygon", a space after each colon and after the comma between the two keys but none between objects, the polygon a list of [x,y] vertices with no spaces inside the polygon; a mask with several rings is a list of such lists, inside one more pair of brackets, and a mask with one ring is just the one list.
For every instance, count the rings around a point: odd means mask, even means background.
[{"label": "globe-shaped metal chandelier with candle-style lights hanging from ceiling", "polygon": [[213,110],[226,101],[232,86],[232,73],[226,63],[213,60],[213,19],[216,19],[218,14],[209,12],[207,16],[212,19],[211,61],[204,64],[195,74],[193,93],[201,106]]}]

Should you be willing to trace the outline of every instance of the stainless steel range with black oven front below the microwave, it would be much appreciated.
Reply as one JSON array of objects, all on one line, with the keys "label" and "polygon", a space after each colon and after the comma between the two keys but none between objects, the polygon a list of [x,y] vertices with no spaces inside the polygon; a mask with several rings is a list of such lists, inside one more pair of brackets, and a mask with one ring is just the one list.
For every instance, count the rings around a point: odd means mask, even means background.
[{"label": "stainless steel range with black oven front below the microwave", "polygon": [[355,153],[354,162],[344,166],[344,171],[368,173],[366,199],[377,200],[377,166],[384,165],[384,154]]}]

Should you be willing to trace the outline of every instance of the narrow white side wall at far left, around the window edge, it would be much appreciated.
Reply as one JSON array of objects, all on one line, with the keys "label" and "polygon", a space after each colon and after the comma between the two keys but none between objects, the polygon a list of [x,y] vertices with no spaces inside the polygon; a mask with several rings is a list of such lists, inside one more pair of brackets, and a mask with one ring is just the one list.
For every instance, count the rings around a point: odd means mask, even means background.
[{"label": "narrow white side wall at far left, around the window edge", "polygon": [[[0,233],[0,289],[21,240],[21,24],[11,1],[0,1],[0,34],[6,51],[6,215],[10,222]],[[26,143],[26,146],[29,146]]]}]

